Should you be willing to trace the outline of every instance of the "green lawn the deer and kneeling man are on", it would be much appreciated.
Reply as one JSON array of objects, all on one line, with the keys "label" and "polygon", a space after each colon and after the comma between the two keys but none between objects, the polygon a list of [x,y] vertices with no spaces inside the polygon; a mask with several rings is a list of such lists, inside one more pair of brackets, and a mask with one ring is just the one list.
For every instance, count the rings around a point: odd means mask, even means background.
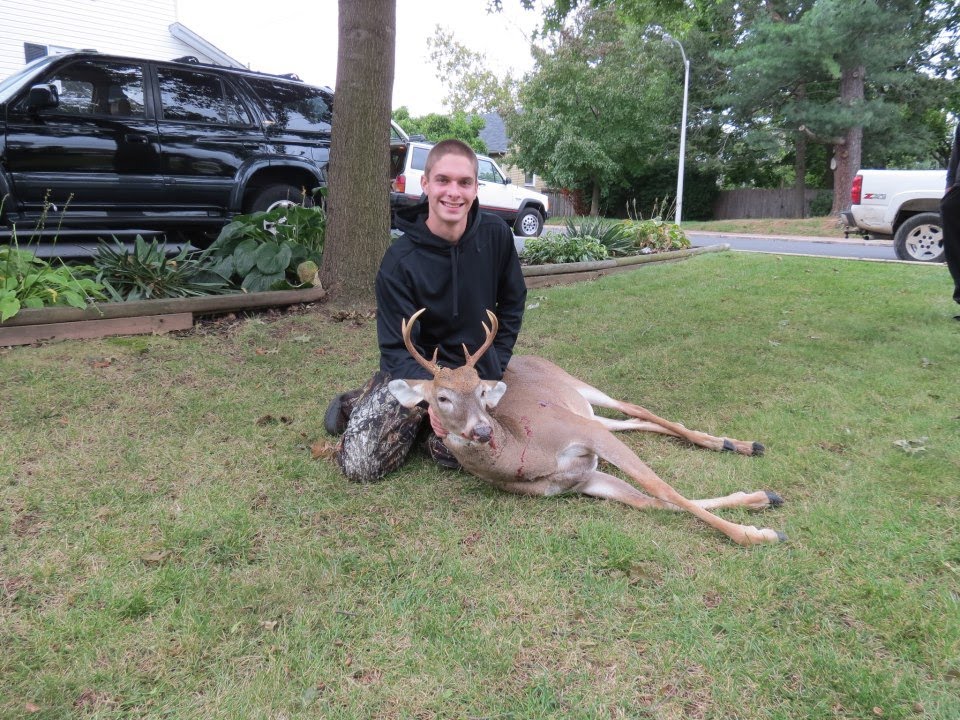
[{"label": "green lawn the deer and kneeling man are on", "polygon": [[346,482],[310,446],[370,321],[0,350],[0,717],[960,717],[948,290],[719,253],[531,291],[520,352],[766,443],[621,435],[688,496],[780,492],[724,513],[790,536],[749,549],[419,455]]}]

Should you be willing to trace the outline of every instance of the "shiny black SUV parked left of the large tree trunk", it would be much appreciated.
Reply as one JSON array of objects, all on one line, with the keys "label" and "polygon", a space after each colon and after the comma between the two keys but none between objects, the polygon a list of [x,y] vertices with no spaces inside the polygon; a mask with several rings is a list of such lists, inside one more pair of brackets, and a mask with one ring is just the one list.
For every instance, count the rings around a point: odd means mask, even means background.
[{"label": "shiny black SUV parked left of the large tree trunk", "polygon": [[326,182],[332,105],[295,75],[195,58],[40,58],[0,81],[0,235],[32,235],[45,203],[69,203],[61,230],[117,234],[301,201]]}]

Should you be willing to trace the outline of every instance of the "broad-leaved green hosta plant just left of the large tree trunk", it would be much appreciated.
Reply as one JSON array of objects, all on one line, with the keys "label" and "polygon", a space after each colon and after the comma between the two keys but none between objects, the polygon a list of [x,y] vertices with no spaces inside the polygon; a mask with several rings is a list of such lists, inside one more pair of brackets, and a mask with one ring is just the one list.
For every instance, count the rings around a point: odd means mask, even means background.
[{"label": "broad-leaved green hosta plant just left of the large tree trunk", "polygon": [[248,292],[300,287],[298,267],[320,265],[326,224],[320,206],[238,215],[208,248],[210,269]]}]

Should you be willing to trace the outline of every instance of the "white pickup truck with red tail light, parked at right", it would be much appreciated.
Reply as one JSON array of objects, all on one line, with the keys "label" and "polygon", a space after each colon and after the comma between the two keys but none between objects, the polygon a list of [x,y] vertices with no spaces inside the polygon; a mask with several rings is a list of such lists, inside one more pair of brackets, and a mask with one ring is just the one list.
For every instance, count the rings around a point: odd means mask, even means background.
[{"label": "white pickup truck with red tail light, parked at right", "polygon": [[943,262],[940,199],[946,170],[861,170],[841,219],[870,237],[893,237],[901,260]]}]

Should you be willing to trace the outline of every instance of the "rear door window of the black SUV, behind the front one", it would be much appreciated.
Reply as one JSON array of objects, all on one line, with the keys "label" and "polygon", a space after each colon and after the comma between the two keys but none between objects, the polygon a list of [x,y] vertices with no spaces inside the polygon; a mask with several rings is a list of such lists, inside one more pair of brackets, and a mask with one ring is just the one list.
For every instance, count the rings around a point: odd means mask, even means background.
[{"label": "rear door window of the black SUV, behind the front one", "polygon": [[250,113],[237,91],[216,75],[162,67],[160,106],[164,120],[250,125]]}]

